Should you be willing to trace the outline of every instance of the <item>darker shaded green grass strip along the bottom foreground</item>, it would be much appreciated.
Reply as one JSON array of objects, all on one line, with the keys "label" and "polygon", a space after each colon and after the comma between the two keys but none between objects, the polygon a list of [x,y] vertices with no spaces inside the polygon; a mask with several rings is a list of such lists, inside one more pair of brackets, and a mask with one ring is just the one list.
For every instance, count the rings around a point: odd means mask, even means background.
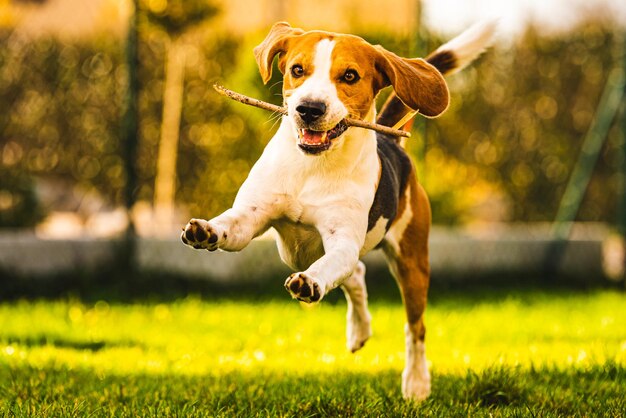
[{"label": "darker shaded green grass strip along the bottom foreground", "polygon": [[400,372],[210,376],[103,375],[88,370],[0,368],[0,411],[16,416],[622,416],[626,370],[496,367],[433,373],[423,403],[400,395]]}]

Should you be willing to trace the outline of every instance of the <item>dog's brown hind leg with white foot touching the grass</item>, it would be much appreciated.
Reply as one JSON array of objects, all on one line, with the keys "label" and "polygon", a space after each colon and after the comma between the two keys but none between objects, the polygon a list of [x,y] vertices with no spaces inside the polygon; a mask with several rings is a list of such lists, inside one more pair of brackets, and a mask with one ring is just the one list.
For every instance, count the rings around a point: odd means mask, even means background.
[{"label": "dog's brown hind leg with white foot touching the grass", "polygon": [[385,237],[383,250],[398,282],[407,316],[402,395],[407,399],[423,400],[430,394],[424,345],[424,310],[430,275],[430,205],[414,175],[410,177],[403,200],[398,217]]}]

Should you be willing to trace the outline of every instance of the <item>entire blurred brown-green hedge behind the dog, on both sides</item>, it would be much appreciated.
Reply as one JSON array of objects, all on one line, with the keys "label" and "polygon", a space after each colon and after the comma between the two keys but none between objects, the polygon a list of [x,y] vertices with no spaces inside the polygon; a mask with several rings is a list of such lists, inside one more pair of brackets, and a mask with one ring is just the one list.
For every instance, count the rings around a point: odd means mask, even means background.
[{"label": "entire blurred brown-green hedge behind the dog, on both sides", "polygon": [[[142,22],[137,193],[138,199],[151,201],[167,36]],[[503,206],[504,215],[498,216],[508,220],[554,218],[615,61],[616,33],[605,22],[582,23],[558,36],[530,28],[509,47],[488,52],[449,79],[450,110],[427,122],[425,144],[419,136],[409,142],[433,201],[435,222],[470,221],[489,205]],[[410,55],[415,44],[389,34],[361,35],[401,55]],[[193,216],[210,217],[230,205],[275,131],[275,116],[224,100],[212,89],[221,82],[281,101],[280,74],[276,71],[263,86],[252,56],[263,36],[238,37],[206,26],[184,45],[176,200]],[[0,225],[32,224],[42,209],[50,209],[34,201],[32,185],[39,177],[66,179],[76,190],[97,190],[111,207],[122,204],[120,131],[127,76],[122,42],[0,33],[0,194],[22,196],[5,202],[30,199],[26,207],[0,205]],[[432,49],[438,45],[431,44]],[[613,129],[611,137],[616,135]],[[610,140],[604,148],[581,220],[613,220],[617,142]],[[15,176],[30,186],[13,186]],[[3,214],[31,209],[19,222]]]}]

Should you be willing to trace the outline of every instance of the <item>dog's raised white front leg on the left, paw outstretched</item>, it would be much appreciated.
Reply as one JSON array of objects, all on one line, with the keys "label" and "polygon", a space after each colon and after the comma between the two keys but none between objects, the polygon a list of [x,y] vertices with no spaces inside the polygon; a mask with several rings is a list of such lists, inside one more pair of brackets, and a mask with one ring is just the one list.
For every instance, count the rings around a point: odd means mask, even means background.
[{"label": "dog's raised white front leg on the left, paw outstretched", "polygon": [[191,219],[181,240],[196,249],[239,251],[267,230],[269,218],[258,206],[239,206],[206,221]]}]

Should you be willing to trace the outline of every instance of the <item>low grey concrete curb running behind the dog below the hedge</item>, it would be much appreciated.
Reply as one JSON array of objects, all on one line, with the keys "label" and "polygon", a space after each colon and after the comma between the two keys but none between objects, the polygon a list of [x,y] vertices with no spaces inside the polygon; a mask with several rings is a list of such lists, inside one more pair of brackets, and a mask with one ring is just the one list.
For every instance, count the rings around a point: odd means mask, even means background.
[{"label": "low grey concrete curb running behind the dog below the hedge", "polygon": [[[601,224],[576,225],[563,246],[555,273],[597,282],[606,277],[604,243],[610,236]],[[434,228],[430,240],[433,275],[455,279],[485,275],[540,275],[557,244],[548,225],[499,225],[489,228]],[[47,240],[32,232],[0,233],[0,271],[17,277],[58,276],[97,271],[115,263],[120,242],[102,239]],[[370,268],[383,268],[380,251],[365,257]],[[198,279],[250,281],[286,276],[271,240],[257,240],[240,253],[191,250],[177,239],[140,238],[140,271],[184,275]]]}]

